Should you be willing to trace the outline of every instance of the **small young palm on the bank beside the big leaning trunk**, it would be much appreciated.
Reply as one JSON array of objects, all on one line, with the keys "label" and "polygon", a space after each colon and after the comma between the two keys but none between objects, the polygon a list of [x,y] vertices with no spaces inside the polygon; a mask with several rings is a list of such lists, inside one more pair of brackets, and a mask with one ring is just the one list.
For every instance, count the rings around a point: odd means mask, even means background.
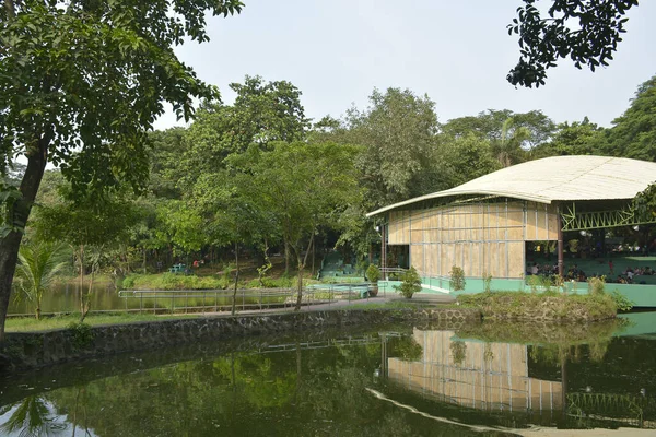
[{"label": "small young palm on the bank beside the big leaning trunk", "polygon": [[16,265],[16,299],[26,298],[36,306],[36,319],[40,318],[40,303],[66,262],[60,262],[61,246],[54,243],[40,243],[22,246]]}]

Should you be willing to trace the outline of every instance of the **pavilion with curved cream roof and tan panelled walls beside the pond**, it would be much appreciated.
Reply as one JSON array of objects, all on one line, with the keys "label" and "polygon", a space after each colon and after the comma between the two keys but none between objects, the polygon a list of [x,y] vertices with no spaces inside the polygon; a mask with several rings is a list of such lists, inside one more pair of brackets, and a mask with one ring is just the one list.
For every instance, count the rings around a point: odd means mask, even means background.
[{"label": "pavilion with curved cream roof and tan panelled walls beside the pond", "polygon": [[[648,229],[645,225],[656,222],[655,217],[639,216],[632,203],[654,181],[656,163],[554,156],[503,168],[367,216],[382,218],[382,265],[387,267],[388,246],[398,246],[397,250],[407,251],[409,264],[420,272],[424,291],[449,293],[454,265],[464,270],[467,292],[482,291],[487,276],[492,277],[493,290],[524,290],[535,257],[529,248],[536,246],[541,249],[542,261],[553,259],[561,276],[566,273],[565,262],[594,257],[596,264],[590,269],[599,272],[589,274],[608,274],[609,260],[614,259],[620,267],[624,258],[636,255],[623,253],[626,257],[622,258],[614,253],[616,258],[610,258],[605,236],[612,228]],[[579,247],[572,253],[570,247],[565,248],[566,236],[573,239],[576,235],[588,240],[596,237],[595,247]],[[555,253],[548,252],[550,246]],[[656,258],[640,261],[649,260],[656,270]],[[636,292],[639,288],[612,285],[622,293],[631,291],[625,294],[640,306],[656,306],[656,285],[645,285],[653,288],[654,297],[648,302]]]}]

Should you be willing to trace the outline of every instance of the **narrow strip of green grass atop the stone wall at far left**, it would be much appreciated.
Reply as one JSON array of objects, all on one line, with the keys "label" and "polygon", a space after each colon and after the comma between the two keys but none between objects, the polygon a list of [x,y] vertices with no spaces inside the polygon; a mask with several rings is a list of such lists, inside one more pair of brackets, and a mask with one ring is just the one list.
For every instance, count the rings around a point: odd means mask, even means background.
[{"label": "narrow strip of green grass atop the stone wall at far left", "polygon": [[[171,320],[171,319],[183,319],[189,317],[198,317],[199,315],[164,315],[155,316],[152,314],[130,314],[130,312],[114,312],[104,315],[89,315],[84,322],[91,326],[97,324],[125,324],[134,323],[138,321],[155,321],[155,320]],[[51,329],[68,328],[72,322],[80,321],[79,314],[47,317],[42,320],[34,318],[11,318],[7,319],[4,324],[5,332],[34,332],[34,331],[48,331]]]}]

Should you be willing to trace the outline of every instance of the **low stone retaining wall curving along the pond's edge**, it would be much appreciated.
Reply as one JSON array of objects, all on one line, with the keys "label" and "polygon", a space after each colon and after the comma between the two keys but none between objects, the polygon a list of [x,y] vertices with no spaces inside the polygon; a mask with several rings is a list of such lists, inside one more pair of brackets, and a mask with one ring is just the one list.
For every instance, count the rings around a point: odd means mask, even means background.
[{"label": "low stone retaining wall curving along the pond's edge", "polygon": [[351,309],[203,317],[99,326],[87,330],[61,329],[8,333],[4,343],[0,344],[0,370],[40,367],[91,356],[244,335],[405,321],[461,324],[480,320],[481,312],[468,308]]}]

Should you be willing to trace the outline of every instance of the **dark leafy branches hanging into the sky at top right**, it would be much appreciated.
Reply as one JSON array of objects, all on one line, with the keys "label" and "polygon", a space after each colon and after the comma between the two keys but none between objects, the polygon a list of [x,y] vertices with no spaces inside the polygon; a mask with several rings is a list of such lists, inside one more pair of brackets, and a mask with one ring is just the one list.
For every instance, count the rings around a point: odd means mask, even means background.
[{"label": "dark leafy branches hanging into the sky at top right", "polygon": [[513,85],[544,85],[547,70],[559,58],[570,58],[578,69],[591,71],[608,66],[626,32],[624,17],[637,0],[553,0],[543,16],[537,0],[524,0],[517,17],[508,24],[508,35],[519,35],[520,57],[507,75]]}]

